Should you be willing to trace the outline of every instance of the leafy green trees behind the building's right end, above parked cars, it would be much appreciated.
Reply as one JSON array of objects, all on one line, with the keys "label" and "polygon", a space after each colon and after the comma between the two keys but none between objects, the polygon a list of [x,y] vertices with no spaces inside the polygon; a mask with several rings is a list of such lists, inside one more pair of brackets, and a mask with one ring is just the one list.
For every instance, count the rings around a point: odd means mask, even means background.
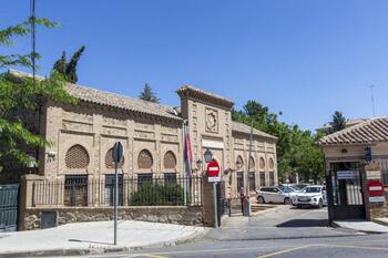
[{"label": "leafy green trees behind the building's right end, above parked cars", "polygon": [[323,178],[324,156],[316,145],[319,135],[279,122],[278,114],[269,112],[267,106],[256,101],[248,101],[241,111],[233,110],[232,118],[247,125],[253,124],[255,128],[278,137],[276,146],[280,179],[284,179],[285,173],[298,173],[305,179]]}]

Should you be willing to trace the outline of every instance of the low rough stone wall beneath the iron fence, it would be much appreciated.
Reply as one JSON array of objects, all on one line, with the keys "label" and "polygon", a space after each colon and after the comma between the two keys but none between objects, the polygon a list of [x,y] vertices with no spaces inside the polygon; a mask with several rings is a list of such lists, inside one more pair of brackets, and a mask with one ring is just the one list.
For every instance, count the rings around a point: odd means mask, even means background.
[{"label": "low rough stone wall beneath the iron fence", "polygon": [[[20,215],[21,219],[19,229],[40,229],[42,211],[57,211],[59,225],[64,225],[69,223],[103,221],[113,219],[113,207],[28,208],[24,209]],[[119,219],[203,226],[202,207],[124,207],[119,208]]]}]

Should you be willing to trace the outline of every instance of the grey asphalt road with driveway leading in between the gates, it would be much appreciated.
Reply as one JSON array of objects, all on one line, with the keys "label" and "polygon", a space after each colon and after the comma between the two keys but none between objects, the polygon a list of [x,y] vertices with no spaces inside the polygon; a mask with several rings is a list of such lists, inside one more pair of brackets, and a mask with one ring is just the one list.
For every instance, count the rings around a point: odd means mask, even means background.
[{"label": "grey asphalt road with driveway leading in between the gates", "polygon": [[388,257],[388,235],[365,235],[327,227],[326,209],[275,208],[227,218],[203,239],[175,247],[150,248],[102,257]]}]

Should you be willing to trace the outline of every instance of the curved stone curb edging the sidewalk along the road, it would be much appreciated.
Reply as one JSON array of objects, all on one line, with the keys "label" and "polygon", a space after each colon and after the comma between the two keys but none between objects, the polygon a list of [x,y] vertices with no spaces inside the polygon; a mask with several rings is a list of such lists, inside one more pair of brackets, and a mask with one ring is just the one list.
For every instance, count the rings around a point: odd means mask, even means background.
[{"label": "curved stone curb edging the sidewalk along the road", "polygon": [[129,252],[131,250],[140,250],[143,248],[171,247],[182,242],[192,241],[203,237],[210,228],[204,228],[201,231],[182,237],[180,239],[170,241],[159,241],[150,245],[134,246],[134,247],[101,247],[91,246],[89,248],[69,248],[69,249],[51,249],[51,250],[33,250],[33,251],[18,251],[18,252],[0,252],[1,258],[22,258],[22,257],[52,257],[52,256],[85,256],[85,255],[103,255],[110,252]]}]

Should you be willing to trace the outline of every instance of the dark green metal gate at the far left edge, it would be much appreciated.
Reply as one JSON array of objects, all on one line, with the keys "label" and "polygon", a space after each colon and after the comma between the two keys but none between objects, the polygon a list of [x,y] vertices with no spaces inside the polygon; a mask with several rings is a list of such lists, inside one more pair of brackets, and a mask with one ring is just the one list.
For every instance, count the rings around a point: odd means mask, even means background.
[{"label": "dark green metal gate at the far left edge", "polygon": [[19,185],[0,185],[0,231],[18,229]]}]

